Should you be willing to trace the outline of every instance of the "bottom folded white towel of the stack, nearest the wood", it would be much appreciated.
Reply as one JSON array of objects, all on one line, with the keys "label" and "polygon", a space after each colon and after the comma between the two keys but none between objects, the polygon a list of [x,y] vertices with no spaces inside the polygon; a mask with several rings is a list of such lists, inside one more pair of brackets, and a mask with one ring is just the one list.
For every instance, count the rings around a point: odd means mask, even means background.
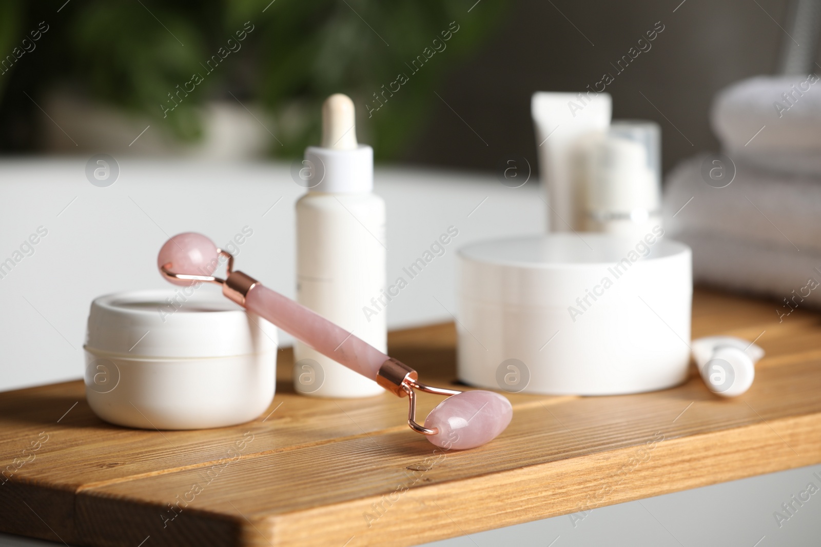
[{"label": "bottom folded white towel of the stack, nearest the wood", "polygon": [[676,235],[693,249],[696,282],[773,297],[782,321],[796,308],[821,308],[821,253],[773,248],[696,230]]}]

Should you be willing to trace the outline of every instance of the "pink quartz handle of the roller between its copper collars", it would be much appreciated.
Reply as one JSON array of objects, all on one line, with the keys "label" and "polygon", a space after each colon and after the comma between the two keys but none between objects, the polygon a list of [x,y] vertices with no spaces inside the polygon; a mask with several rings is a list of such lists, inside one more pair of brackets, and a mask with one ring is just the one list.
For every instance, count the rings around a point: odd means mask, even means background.
[{"label": "pink quartz handle of the roller between its copper collars", "polygon": [[388,355],[352,332],[263,285],[251,287],[245,295],[245,308],[271,321],[325,357],[371,380],[376,380],[379,367],[388,361]]}]

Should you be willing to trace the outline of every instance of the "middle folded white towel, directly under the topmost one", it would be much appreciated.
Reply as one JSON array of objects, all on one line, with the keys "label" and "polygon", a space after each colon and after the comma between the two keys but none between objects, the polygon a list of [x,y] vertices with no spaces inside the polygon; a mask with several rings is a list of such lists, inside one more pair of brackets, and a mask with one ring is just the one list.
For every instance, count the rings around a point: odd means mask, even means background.
[{"label": "middle folded white towel, directly under the topmost one", "polygon": [[702,175],[707,158],[690,158],[667,175],[663,208],[668,233],[675,237],[699,230],[793,253],[821,253],[817,180],[767,174],[739,164],[730,185],[713,188]]}]

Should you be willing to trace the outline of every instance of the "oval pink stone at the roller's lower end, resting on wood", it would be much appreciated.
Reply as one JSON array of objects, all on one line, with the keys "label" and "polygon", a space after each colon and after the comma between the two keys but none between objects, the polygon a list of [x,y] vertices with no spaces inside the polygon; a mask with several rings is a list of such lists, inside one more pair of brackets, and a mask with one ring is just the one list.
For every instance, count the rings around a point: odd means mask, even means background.
[{"label": "oval pink stone at the roller's lower end, resting on wood", "polygon": [[513,417],[510,401],[493,391],[466,391],[439,403],[424,421],[428,440],[443,449],[472,449],[495,439]]}]

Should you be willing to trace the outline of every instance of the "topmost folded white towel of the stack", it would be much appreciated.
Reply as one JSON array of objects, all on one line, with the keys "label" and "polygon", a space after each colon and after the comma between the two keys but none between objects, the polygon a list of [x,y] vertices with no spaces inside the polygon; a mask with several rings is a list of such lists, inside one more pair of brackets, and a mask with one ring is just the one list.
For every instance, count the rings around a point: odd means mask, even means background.
[{"label": "topmost folded white towel of the stack", "polygon": [[821,176],[821,78],[756,76],[718,92],[710,113],[736,162]]}]

